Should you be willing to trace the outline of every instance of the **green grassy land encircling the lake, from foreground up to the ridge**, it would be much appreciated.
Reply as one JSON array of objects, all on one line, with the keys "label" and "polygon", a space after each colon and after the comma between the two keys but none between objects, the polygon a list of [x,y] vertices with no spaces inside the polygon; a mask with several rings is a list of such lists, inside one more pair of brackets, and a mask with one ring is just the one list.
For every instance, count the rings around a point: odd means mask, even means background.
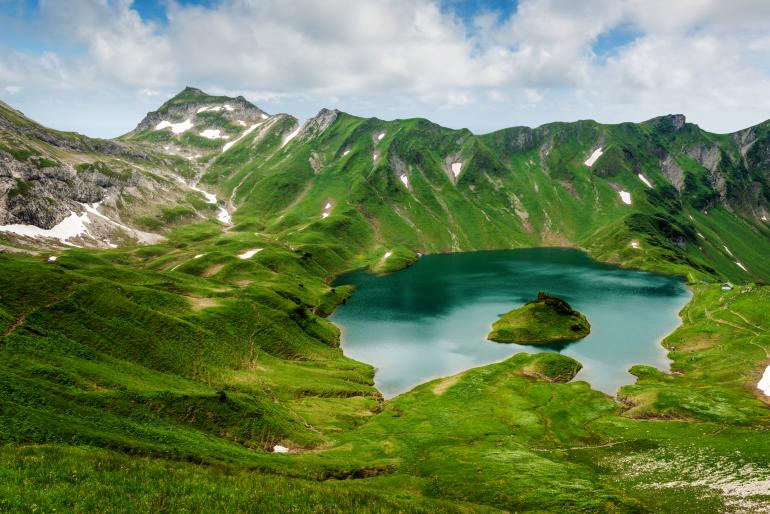
[{"label": "green grassy land encircling the lake, from foreground up to the ridge", "polygon": [[[187,217],[143,197],[160,243],[0,254],[0,510],[767,509],[764,126],[476,136],[324,111],[260,127],[192,160],[120,143],[187,163],[232,225],[199,194]],[[614,399],[572,381],[577,361],[518,354],[384,401],[339,349],[339,273],[536,245],[687,276],[671,372],[635,366]]]}]

